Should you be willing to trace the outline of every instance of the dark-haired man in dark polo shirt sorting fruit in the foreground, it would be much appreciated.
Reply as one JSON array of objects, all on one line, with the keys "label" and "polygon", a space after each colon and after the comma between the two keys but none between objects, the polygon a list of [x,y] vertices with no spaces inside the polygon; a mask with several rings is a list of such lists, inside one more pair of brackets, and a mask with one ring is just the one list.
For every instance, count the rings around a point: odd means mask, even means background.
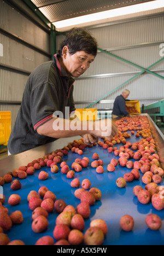
[{"label": "dark-haired man in dark polo shirt sorting fruit in the foreground", "polygon": [[[73,99],[74,78],[80,77],[90,67],[97,55],[97,42],[84,28],[72,28],[54,59],[37,67],[27,80],[22,103],[8,142],[9,154],[18,154],[51,143],[58,138],[84,137],[93,144],[102,136],[107,120],[98,120],[90,129],[89,122],[77,121],[79,129],[72,129],[72,120],[66,115],[75,110]],[[62,113],[54,115],[54,113]],[[67,113],[68,114],[68,113]],[[68,117],[66,117],[68,116]],[[62,129],[56,129],[58,121]],[[55,125],[56,124],[56,125]],[[110,120],[112,131],[117,128]],[[109,125],[108,125],[109,126]]]}]

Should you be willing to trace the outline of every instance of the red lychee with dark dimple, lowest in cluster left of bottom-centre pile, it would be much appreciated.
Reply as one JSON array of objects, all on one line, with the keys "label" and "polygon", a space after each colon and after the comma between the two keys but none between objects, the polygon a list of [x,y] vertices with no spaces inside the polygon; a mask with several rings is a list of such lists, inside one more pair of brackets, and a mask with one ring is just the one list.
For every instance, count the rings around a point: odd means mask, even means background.
[{"label": "red lychee with dark dimple, lowest in cluster left of bottom-centre pile", "polygon": [[48,219],[40,215],[33,220],[32,230],[35,233],[41,233],[48,228],[48,225],[49,225]]}]

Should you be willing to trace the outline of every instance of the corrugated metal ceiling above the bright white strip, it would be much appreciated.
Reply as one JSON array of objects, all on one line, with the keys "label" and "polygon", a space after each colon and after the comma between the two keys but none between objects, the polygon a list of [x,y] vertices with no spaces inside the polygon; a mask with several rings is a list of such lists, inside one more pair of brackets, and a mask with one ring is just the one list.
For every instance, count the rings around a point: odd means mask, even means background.
[{"label": "corrugated metal ceiling above the bright white strip", "polygon": [[31,0],[50,22],[154,0]]}]

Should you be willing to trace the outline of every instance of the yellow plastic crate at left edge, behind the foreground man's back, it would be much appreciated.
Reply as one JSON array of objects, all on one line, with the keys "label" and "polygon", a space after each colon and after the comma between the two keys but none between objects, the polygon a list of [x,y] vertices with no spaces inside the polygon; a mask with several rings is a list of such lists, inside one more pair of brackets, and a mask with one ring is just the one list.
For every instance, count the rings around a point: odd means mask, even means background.
[{"label": "yellow plastic crate at left edge, behind the foreground man's back", "polygon": [[11,111],[0,111],[0,145],[7,146],[11,133]]}]

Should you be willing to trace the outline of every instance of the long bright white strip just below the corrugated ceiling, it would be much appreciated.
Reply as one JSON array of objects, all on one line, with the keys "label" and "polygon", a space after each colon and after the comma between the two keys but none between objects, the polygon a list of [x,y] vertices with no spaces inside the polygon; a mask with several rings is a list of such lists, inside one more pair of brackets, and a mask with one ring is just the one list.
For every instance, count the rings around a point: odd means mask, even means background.
[{"label": "long bright white strip just below the corrugated ceiling", "polygon": [[127,7],[101,11],[99,13],[79,16],[72,19],[56,21],[56,22],[53,22],[53,24],[57,29],[57,28],[75,26],[75,25],[84,24],[84,23],[86,24],[87,22],[115,18],[115,17],[124,16],[128,14],[140,13],[142,11],[154,10],[154,9],[159,9],[163,7],[164,7],[164,0],[156,0],[156,1],[151,1],[146,3],[141,3],[141,4],[134,4]]}]

